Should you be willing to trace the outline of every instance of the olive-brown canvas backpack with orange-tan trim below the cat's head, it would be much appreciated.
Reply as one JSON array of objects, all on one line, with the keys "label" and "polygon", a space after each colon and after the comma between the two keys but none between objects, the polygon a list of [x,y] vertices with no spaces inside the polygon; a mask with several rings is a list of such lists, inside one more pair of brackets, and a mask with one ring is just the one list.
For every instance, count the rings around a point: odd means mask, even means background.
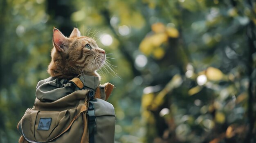
[{"label": "olive-brown canvas backpack with orange-tan trim below the cat's head", "polygon": [[19,143],[114,143],[115,110],[106,101],[113,88],[87,75],[39,81],[17,126]]}]

